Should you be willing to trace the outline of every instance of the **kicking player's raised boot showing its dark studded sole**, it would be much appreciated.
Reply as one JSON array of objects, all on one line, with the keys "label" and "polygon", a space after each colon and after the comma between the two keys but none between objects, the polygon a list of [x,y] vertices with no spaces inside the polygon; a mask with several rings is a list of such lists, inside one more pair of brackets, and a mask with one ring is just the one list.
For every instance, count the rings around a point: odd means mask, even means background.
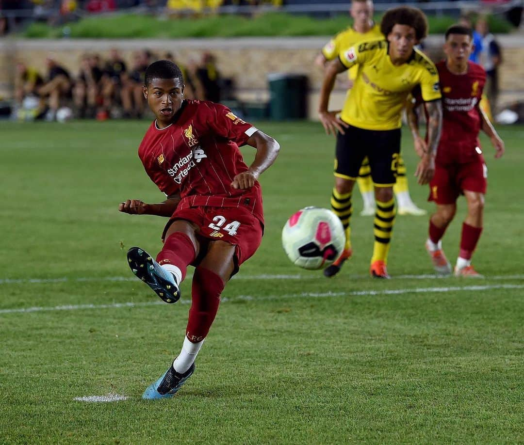
[{"label": "kicking player's raised boot showing its dark studded sole", "polygon": [[127,262],[132,272],[166,303],[176,303],[180,288],[174,275],[158,264],[149,253],[139,247],[127,251]]}]

